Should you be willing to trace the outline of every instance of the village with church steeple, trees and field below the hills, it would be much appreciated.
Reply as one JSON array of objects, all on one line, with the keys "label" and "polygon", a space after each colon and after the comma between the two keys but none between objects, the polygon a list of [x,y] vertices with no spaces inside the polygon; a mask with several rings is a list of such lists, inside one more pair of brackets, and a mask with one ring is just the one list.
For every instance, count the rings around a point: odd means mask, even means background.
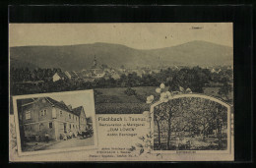
[{"label": "village with church steeple, trees and field below the hills", "polygon": [[151,69],[112,68],[92,56],[92,67],[80,71],[12,68],[11,95],[95,89],[96,113],[142,113],[149,94],[161,83],[178,86],[232,103],[232,66],[170,66]]}]

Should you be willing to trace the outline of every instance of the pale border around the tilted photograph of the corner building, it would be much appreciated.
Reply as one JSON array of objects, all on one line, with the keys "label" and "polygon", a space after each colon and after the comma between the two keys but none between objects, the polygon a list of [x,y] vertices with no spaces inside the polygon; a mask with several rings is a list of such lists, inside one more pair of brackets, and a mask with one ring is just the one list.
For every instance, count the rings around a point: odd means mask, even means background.
[{"label": "pale border around the tilted photograph of the corner building", "polygon": [[[18,110],[17,110],[17,100],[24,99],[24,98],[32,98],[32,97],[45,97],[51,95],[70,95],[70,94],[90,94],[90,98],[95,101],[94,98],[94,90],[79,90],[79,91],[65,91],[65,92],[52,92],[52,93],[39,93],[39,94],[28,94],[28,95],[17,95],[13,96],[13,107],[14,107],[14,121],[15,121],[15,128],[16,128],[16,135],[17,135],[17,146],[18,146],[18,155],[34,155],[34,154],[45,154],[45,153],[53,153],[53,152],[65,152],[65,151],[74,151],[74,150],[84,150],[84,149],[96,149],[98,142],[97,142],[97,132],[96,132],[96,113],[92,115],[93,119],[93,129],[94,129],[94,140],[95,144],[90,146],[79,146],[79,147],[71,147],[65,149],[50,149],[50,150],[38,150],[38,151],[22,151],[21,147],[21,139],[20,139],[20,128],[19,128],[19,119],[18,119]],[[95,103],[92,104],[94,112],[95,110]]]}]

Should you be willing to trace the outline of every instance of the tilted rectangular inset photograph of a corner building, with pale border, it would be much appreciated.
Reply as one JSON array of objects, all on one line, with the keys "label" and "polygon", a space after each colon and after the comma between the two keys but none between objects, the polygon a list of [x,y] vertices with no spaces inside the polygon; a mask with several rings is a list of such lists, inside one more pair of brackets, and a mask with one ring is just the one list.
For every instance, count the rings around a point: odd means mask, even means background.
[{"label": "tilted rectangular inset photograph of a corner building, with pale border", "polygon": [[93,90],[14,96],[13,102],[21,155],[96,147]]}]

